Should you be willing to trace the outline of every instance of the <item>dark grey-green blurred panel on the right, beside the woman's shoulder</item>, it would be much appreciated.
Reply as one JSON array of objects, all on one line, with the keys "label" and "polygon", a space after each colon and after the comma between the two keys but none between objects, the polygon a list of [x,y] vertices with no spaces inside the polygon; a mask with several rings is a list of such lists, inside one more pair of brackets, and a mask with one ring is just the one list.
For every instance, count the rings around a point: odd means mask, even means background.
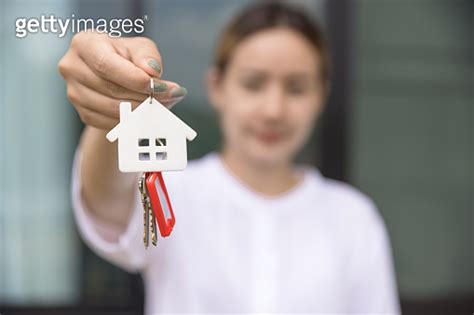
[{"label": "dark grey-green blurred panel on the right, beside the woman's shoulder", "polygon": [[472,292],[474,2],[355,4],[351,179],[387,221],[404,296]]}]

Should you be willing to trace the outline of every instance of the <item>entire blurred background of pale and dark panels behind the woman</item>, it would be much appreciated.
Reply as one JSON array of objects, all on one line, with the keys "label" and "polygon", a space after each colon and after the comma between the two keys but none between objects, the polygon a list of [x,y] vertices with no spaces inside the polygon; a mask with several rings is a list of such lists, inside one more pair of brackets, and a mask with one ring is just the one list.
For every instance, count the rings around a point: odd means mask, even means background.
[{"label": "entire blurred background of pale and dark panels behind the woman", "polygon": [[[14,20],[147,15],[174,109],[219,147],[203,74],[222,26],[250,1],[0,1],[0,313],[139,314],[143,287],[81,242],[69,180],[82,123],[56,64],[72,34],[14,36]],[[405,314],[470,314],[473,281],[473,14],[469,0],[303,0],[327,29],[334,82],[301,159],[377,203]]]}]

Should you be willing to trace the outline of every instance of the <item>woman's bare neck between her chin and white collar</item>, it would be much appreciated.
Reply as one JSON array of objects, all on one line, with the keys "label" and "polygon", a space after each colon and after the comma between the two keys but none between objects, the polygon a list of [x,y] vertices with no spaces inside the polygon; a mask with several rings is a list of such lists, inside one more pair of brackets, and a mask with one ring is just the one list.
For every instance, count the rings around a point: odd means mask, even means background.
[{"label": "woman's bare neck between her chin and white collar", "polygon": [[252,190],[266,196],[276,196],[293,188],[301,179],[291,162],[275,165],[252,163],[242,155],[224,149],[221,158],[225,166]]}]

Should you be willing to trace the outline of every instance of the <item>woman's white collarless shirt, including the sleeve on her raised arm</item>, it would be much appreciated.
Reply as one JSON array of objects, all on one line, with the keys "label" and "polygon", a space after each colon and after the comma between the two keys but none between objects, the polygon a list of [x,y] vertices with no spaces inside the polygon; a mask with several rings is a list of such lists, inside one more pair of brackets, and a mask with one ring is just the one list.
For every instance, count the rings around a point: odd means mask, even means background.
[{"label": "woman's white collarless shirt, including the sleeve on her raised arm", "polygon": [[83,203],[79,157],[72,180],[79,231],[98,255],[142,273],[146,314],[400,313],[383,220],[347,184],[304,167],[297,187],[269,198],[209,153],[163,174],[176,224],[145,250],[138,189],[128,228],[114,231]]}]

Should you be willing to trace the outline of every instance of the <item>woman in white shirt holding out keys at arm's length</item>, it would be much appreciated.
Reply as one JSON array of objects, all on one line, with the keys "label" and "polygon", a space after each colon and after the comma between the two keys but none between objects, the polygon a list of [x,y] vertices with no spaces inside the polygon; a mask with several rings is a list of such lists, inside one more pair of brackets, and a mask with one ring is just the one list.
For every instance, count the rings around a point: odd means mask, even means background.
[{"label": "woman in white shirt holding out keys at arm's length", "polygon": [[75,216],[99,255],[143,275],[146,313],[399,312],[388,237],[373,203],[292,161],[328,93],[319,28],[301,11],[265,2],[225,29],[207,76],[223,148],[165,174],[177,224],[142,244],[137,175],[118,171],[105,138],[118,104],[186,90],[161,80],[146,38],[76,35],[59,63],[68,97],[88,125],[73,170]]}]

